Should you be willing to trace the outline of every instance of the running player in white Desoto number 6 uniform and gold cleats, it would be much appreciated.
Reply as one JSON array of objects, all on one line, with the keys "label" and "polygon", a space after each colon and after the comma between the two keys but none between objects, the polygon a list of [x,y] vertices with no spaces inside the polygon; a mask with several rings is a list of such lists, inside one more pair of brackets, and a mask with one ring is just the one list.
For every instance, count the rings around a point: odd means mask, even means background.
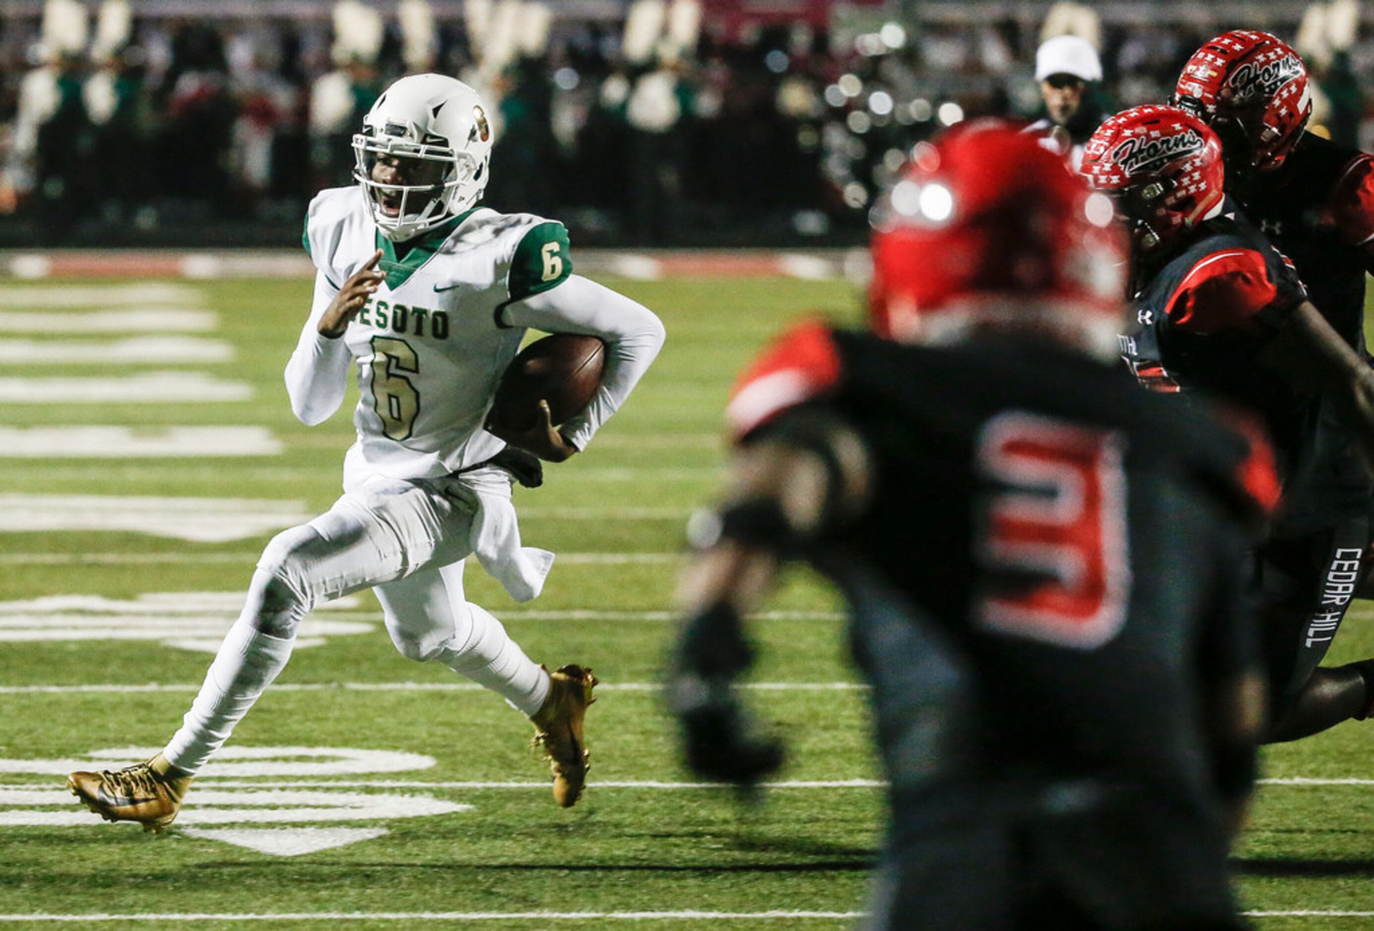
[{"label": "running player in white Desoto number 6 uniform and gold cleats", "polygon": [[[583,715],[596,680],[580,666],[532,662],[502,623],[463,595],[474,555],[523,601],[554,555],[522,547],[511,505],[518,453],[562,461],[614,413],[664,342],[639,303],[573,275],[563,225],[477,206],[492,148],[477,93],[449,77],[401,78],[354,136],[357,185],[320,192],[305,221],[315,301],[286,367],[291,409],[333,415],[357,365],[357,442],[344,496],[278,534],[184,724],[153,759],[71,773],[93,812],[144,829],[172,823],[191,777],[286,665],[301,619],[322,601],[372,588],[405,656],[438,660],[534,722],[554,798],[585,783]],[[502,372],[528,328],[599,336],[602,384],[563,424],[484,428]],[[523,455],[525,467],[537,461]],[[514,471],[511,471],[514,470]]]}]

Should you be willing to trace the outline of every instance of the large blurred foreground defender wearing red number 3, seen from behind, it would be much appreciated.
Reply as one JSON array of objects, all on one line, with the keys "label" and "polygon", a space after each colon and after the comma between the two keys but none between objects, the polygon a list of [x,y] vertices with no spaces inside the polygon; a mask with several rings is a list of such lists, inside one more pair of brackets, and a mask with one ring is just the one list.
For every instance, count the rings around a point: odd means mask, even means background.
[{"label": "large blurred foreground defender wearing red number 3, seen from behind", "polygon": [[901,342],[798,327],[727,408],[736,478],[695,522],[669,680],[690,765],[779,763],[731,682],[742,614],[805,559],[848,600],[890,783],[868,927],[1237,927],[1267,445],[1112,364],[1120,231],[1033,139],[921,150],[877,222]]}]

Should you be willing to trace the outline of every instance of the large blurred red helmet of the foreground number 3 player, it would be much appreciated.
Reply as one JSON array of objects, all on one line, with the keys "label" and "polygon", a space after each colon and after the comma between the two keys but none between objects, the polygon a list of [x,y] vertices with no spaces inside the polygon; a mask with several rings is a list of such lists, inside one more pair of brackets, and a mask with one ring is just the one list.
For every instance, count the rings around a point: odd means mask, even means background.
[{"label": "large blurred red helmet of the foreground number 3 player", "polygon": [[883,336],[947,342],[1040,325],[1116,350],[1125,244],[1110,200],[1018,126],[921,143],[872,213],[870,316]]}]

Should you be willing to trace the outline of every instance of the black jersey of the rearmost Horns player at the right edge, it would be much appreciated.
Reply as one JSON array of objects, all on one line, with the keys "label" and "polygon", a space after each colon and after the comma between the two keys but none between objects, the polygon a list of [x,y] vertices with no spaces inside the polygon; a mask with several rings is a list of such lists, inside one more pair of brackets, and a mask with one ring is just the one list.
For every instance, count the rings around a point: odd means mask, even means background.
[{"label": "black jersey of the rearmost Horns player at the right edge", "polygon": [[1364,275],[1374,262],[1360,247],[1374,233],[1370,157],[1304,133],[1276,176],[1238,195],[1245,216],[1293,260],[1312,303],[1352,347],[1364,345]]}]

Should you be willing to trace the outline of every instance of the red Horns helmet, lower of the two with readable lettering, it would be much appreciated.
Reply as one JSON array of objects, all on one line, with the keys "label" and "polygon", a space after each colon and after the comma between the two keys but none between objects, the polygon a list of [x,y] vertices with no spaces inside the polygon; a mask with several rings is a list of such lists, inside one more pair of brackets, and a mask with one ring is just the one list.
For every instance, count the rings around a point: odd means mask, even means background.
[{"label": "red Horns helmet, lower of the two with readable lettering", "polygon": [[1112,117],[1088,139],[1079,170],[1113,196],[1140,249],[1157,249],[1221,210],[1221,143],[1178,107]]}]

